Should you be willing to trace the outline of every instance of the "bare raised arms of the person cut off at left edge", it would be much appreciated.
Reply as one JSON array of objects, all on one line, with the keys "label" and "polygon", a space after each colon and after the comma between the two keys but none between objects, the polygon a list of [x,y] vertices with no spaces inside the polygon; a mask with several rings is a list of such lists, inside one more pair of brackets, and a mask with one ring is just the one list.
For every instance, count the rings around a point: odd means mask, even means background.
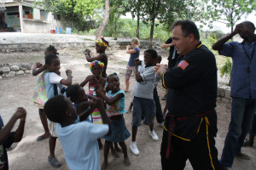
[{"label": "bare raised arms of the person cut off at left edge", "polygon": [[[25,124],[25,119],[26,119],[26,111],[25,109],[19,107],[17,109],[17,111],[15,112],[15,114],[12,116],[12,118],[9,120],[9,122],[6,124],[6,126],[3,127],[3,129],[0,131],[0,144],[3,144],[6,139],[9,138],[9,133],[11,132],[12,128],[14,127],[15,125],[15,122],[20,119],[20,123],[24,123]],[[21,139],[22,136],[23,136],[23,132],[24,132],[24,125],[23,125],[23,128],[22,128],[22,123],[21,125],[18,127],[17,131],[15,132],[15,136],[16,138],[14,139],[14,142],[15,140],[17,139]],[[22,134],[21,134],[22,133]],[[21,134],[21,138],[20,138],[20,134]]]}]

